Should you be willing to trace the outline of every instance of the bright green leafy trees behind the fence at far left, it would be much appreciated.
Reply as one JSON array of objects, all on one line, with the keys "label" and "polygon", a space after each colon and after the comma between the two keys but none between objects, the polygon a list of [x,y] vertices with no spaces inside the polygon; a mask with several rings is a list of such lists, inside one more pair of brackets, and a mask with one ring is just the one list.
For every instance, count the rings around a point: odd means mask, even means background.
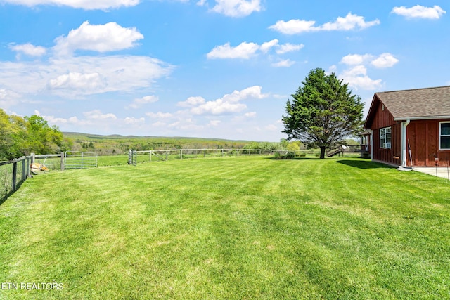
[{"label": "bright green leafy trees behind the fence at far left", "polygon": [[72,142],[63,138],[57,126],[49,126],[43,117],[8,115],[0,109],[0,160],[31,153],[58,153],[71,147]]}]

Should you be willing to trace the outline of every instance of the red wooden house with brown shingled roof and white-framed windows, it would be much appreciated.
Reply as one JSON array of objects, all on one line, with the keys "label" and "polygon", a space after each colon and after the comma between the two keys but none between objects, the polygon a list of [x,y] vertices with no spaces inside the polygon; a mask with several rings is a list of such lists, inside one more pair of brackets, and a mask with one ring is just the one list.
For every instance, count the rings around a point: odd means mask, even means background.
[{"label": "red wooden house with brown shingled roof and white-framed windows", "polygon": [[450,86],[375,93],[364,129],[373,161],[448,166]]}]

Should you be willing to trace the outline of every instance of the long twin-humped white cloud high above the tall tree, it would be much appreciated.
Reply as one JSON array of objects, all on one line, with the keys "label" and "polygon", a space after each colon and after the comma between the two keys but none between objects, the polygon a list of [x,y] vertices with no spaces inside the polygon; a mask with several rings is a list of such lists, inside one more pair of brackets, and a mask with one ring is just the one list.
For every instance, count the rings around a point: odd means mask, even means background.
[{"label": "long twin-humped white cloud high above the tall tree", "polygon": [[364,17],[348,13],[345,18],[338,17],[334,22],[327,22],[320,26],[314,26],[316,21],[307,20],[289,20],[287,22],[279,20],[275,25],[269,28],[283,34],[300,34],[303,32],[319,32],[319,31],[347,31],[347,30],[363,30],[368,27],[379,25],[380,20],[375,19],[366,22]]}]

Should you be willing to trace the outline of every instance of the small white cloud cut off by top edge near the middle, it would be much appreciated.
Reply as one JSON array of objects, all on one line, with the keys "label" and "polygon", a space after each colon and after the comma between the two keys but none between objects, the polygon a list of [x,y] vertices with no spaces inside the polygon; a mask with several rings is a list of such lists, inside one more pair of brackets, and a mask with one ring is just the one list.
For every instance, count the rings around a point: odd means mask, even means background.
[{"label": "small white cloud cut off by top edge near the middle", "polygon": [[245,17],[255,11],[262,11],[262,6],[261,0],[216,0],[212,11],[229,17]]}]

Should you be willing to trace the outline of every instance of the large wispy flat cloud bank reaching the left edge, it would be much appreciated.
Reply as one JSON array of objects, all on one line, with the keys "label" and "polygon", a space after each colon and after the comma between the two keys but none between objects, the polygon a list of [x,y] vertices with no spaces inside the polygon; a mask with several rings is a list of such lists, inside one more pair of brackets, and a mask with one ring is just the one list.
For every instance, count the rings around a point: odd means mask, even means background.
[{"label": "large wispy flat cloud bank reaching the left edge", "polygon": [[147,88],[172,69],[172,66],[146,56],[70,56],[43,62],[0,61],[0,81],[15,93],[45,91],[65,98],[79,98]]}]

